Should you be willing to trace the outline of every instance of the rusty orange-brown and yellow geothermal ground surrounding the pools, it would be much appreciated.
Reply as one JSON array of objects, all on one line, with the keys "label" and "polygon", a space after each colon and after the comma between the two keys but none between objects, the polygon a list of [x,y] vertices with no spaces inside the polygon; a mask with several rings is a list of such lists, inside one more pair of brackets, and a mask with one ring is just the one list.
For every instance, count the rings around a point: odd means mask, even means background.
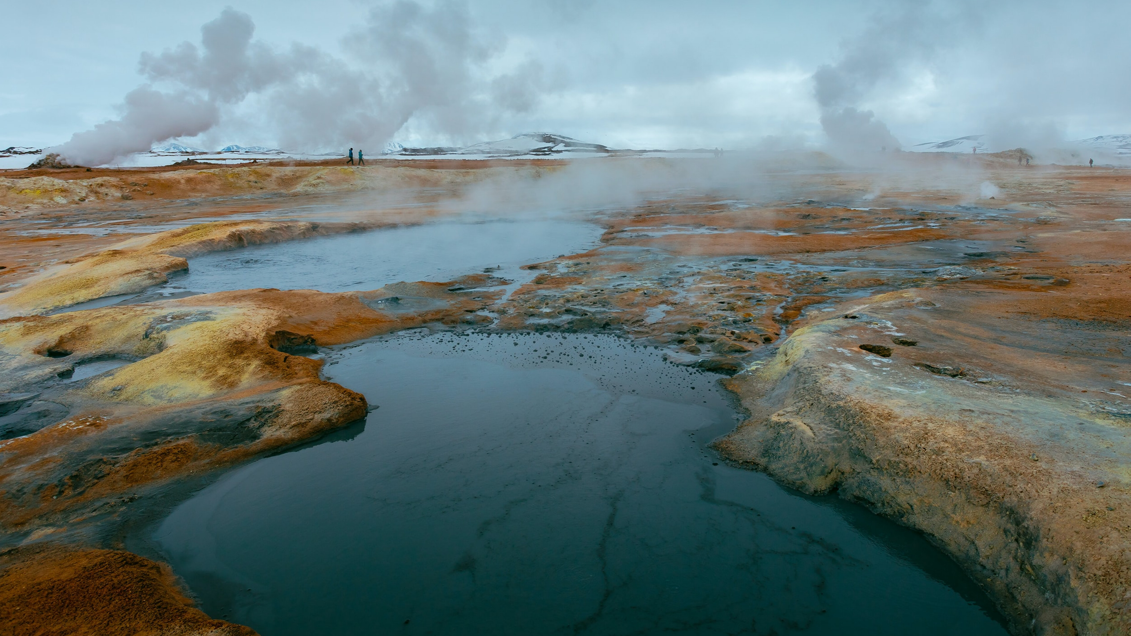
[{"label": "rusty orange-brown and yellow geothermal ground surrounding the pools", "polygon": [[[1131,631],[1128,171],[904,156],[762,174],[771,196],[642,197],[593,213],[602,246],[532,264],[507,300],[480,275],[46,315],[141,291],[201,251],[426,222],[470,184],[552,182],[562,165],[0,173],[0,617],[19,613],[19,634],[249,633],[123,552],[121,527],[362,416],[364,398],[321,380],[310,347],[433,325],[613,329],[731,375],[749,419],[716,442],[725,457],[922,531],[1019,634]],[[260,187],[275,198],[238,198]],[[282,212],[359,191],[417,205]],[[87,222],[115,229],[66,231]],[[133,362],[55,380],[110,358]],[[95,592],[119,588],[113,610]]]}]

